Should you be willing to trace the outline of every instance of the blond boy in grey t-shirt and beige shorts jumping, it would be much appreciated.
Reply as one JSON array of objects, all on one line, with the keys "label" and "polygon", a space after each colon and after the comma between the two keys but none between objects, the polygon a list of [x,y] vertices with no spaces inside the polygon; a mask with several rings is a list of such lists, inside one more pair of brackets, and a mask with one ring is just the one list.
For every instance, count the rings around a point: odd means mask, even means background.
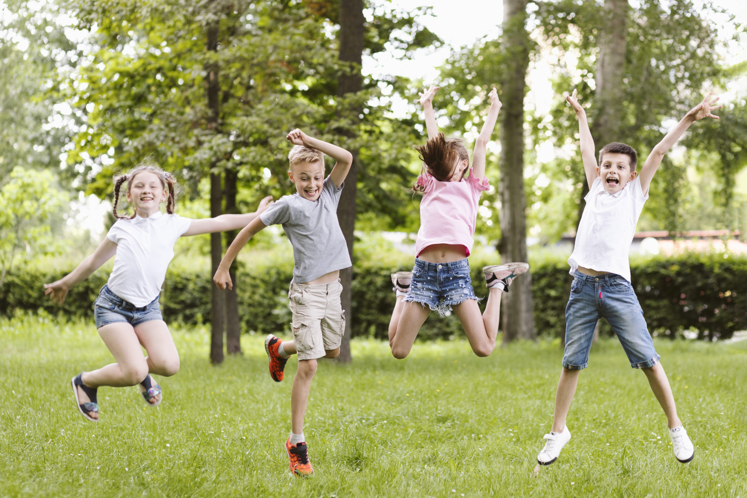
[{"label": "blond boy in grey t-shirt and beige shorts jumping", "polygon": [[[303,418],[309,399],[317,358],[336,358],[345,332],[340,304],[340,270],[350,267],[347,243],[337,220],[343,181],[353,164],[353,155],[341,147],[311,138],[295,129],[288,134],[294,144],[288,154],[288,176],[296,193],[283,196],[261,217],[246,226],[220,261],[213,281],[221,289],[231,288],[229,267],[247,241],[268,225],[282,224],[293,246],[293,281],[288,292],[293,312],[293,340],[283,342],[273,334],[264,341],[270,358],[270,376],[280,382],[285,362],[298,355],[298,370],[291,393],[291,436],[285,442],[291,472],[308,476],[314,472],[303,436]],[[324,154],[337,163],[324,178]]]}]

